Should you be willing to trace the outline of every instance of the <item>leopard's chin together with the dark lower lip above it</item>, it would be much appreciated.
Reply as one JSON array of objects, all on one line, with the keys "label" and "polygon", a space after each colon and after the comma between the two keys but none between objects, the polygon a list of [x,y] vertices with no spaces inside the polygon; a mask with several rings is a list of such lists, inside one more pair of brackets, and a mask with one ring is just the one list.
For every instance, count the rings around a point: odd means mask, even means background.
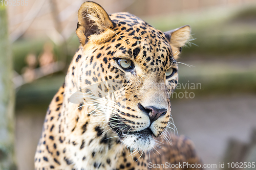
[{"label": "leopard's chin together with the dark lower lip above it", "polygon": [[150,151],[156,144],[152,131],[149,128],[137,132],[123,133],[120,139],[122,144],[132,151]]}]

